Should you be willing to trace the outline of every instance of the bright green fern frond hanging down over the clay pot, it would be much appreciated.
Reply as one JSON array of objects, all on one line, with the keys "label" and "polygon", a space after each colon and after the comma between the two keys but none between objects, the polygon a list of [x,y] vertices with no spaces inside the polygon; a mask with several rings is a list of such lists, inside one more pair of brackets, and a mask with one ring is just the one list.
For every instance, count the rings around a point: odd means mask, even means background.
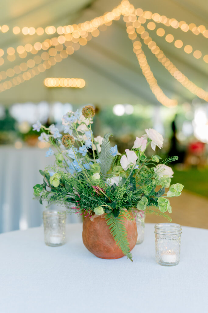
[{"label": "bright green fern frond hanging down over the clay pot", "polygon": [[114,217],[113,213],[108,213],[105,215],[105,220],[109,226],[109,230],[114,237],[114,240],[123,252],[133,262],[132,254],[130,252],[126,228],[124,225],[124,214],[119,214],[117,218]]}]

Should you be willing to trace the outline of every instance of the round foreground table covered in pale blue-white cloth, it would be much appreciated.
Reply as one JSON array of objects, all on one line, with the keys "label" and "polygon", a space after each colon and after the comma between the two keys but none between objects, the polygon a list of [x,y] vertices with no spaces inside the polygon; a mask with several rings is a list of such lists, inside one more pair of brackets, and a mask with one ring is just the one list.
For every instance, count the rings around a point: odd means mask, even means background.
[{"label": "round foreground table covered in pale blue-white cloth", "polygon": [[181,261],[155,262],[154,225],[126,257],[99,259],[68,224],[67,243],[48,247],[43,228],[0,235],[0,312],[208,312],[208,230],[182,228]]}]

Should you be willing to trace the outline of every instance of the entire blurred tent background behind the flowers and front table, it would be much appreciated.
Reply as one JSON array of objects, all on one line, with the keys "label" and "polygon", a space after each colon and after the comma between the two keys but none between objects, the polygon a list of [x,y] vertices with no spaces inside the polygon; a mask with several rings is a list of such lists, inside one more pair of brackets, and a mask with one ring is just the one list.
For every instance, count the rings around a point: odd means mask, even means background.
[{"label": "entire blurred tent background behind the flowers and front table", "polygon": [[[42,223],[45,207],[33,200],[33,186],[53,161],[32,124],[54,123],[61,131],[62,115],[88,104],[96,109],[94,135],[112,132],[120,152],[145,128],[164,136],[156,152],[179,157],[172,182],[185,186],[171,199],[172,221],[208,228],[207,2],[1,6],[0,233]],[[146,221],[165,222],[153,215]]]}]

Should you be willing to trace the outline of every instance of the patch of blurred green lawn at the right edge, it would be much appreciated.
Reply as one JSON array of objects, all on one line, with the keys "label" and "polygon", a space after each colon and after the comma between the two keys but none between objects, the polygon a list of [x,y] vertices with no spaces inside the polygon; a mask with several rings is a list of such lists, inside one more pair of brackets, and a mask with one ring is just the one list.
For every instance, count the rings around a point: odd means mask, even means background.
[{"label": "patch of blurred green lawn at the right edge", "polygon": [[197,193],[208,198],[208,169],[191,168],[179,171],[173,167],[174,177],[171,183],[184,185],[184,190]]}]

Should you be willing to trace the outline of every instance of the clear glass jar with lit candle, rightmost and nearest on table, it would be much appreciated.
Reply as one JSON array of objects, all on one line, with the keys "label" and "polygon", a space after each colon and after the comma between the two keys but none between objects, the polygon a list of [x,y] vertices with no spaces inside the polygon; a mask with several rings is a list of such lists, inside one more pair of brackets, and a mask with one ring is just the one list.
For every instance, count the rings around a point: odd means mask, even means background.
[{"label": "clear glass jar with lit candle, rightmost and nearest on table", "polygon": [[155,258],[164,266],[174,266],[180,261],[181,225],[159,223],[155,225]]}]

